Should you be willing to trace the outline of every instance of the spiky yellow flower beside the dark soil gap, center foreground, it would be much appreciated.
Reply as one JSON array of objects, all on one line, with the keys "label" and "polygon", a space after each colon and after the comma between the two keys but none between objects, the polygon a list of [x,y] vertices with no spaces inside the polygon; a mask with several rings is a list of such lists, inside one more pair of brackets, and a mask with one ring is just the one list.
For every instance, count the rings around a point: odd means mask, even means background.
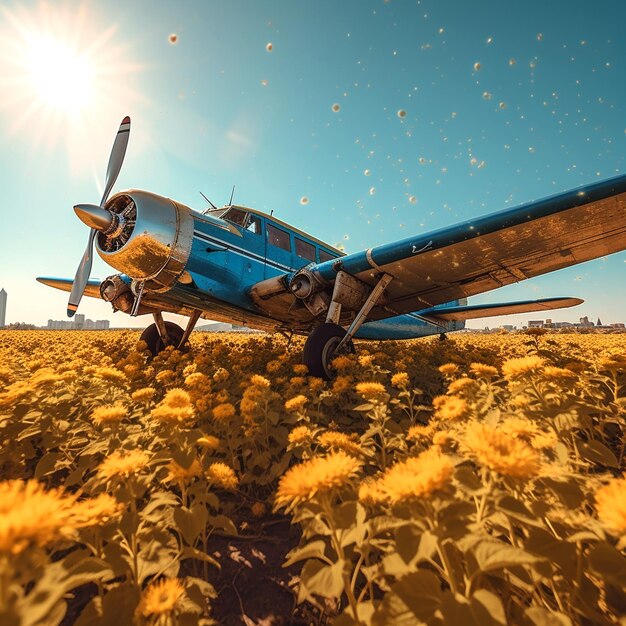
[{"label": "spiky yellow flower beside the dark soil gap, center foreground", "polygon": [[361,462],[343,451],[331,452],[294,465],[282,476],[276,491],[276,506],[289,511],[319,493],[328,493],[350,482]]}]

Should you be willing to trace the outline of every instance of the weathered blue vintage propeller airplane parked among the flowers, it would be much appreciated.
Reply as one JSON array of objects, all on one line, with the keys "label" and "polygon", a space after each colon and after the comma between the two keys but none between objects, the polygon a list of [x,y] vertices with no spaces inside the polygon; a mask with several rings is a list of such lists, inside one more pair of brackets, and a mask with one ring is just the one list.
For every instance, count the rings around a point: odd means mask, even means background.
[{"label": "weathered blue vintage propeller airplane parked among the flowers", "polygon": [[[74,211],[90,228],[74,280],[39,277],[131,316],[151,314],[153,356],[183,348],[202,317],[306,335],[304,363],[330,379],[353,339],[410,339],[461,330],[468,319],[571,307],[551,297],[468,305],[467,298],[626,249],[626,175],[453,226],[344,254],[273,215],[232,204],[197,212],[149,191],[109,197],[130,133],[122,120],[99,205]],[[208,198],[207,198],[208,200]],[[93,246],[119,273],[90,279]],[[185,329],[163,312],[189,318]]]}]

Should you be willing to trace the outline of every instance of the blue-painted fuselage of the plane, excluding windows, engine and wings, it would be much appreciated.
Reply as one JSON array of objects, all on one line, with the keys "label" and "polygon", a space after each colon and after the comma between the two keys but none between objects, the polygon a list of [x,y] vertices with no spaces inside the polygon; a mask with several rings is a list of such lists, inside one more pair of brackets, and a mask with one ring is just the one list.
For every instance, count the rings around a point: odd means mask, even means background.
[{"label": "blue-painted fuselage of the plane, excluding windows, engine and wings", "polygon": [[[242,210],[243,209],[242,207]],[[219,301],[222,307],[231,307],[241,314],[259,311],[249,296],[253,285],[275,276],[292,273],[310,263],[320,261],[320,251],[337,255],[330,246],[307,238],[304,233],[291,230],[283,222],[276,222],[269,216],[254,212],[260,222],[260,232],[255,233],[234,225],[224,224],[218,218],[205,219],[194,214],[194,237],[186,271],[193,278],[193,287],[178,284],[171,296],[182,302],[197,294],[205,294],[211,300]],[[287,233],[290,251],[272,245],[268,241],[267,225]],[[296,241],[305,242],[315,249],[315,261],[296,254]],[[196,295],[197,297],[197,295]],[[195,298],[194,298],[195,299]],[[450,303],[456,304],[456,302]],[[281,324],[277,319],[277,326]],[[463,328],[462,322],[442,324],[446,330]],[[441,328],[410,314],[399,315],[386,320],[366,322],[356,334],[363,339],[410,339],[441,332]]]}]

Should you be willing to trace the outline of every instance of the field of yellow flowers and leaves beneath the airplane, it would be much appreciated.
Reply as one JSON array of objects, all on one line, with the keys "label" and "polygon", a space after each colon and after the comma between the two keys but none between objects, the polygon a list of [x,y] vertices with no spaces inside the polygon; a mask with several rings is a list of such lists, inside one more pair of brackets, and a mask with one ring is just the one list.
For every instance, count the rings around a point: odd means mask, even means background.
[{"label": "field of yellow flowers and leaves beneath the airplane", "polygon": [[0,331],[1,624],[626,623],[626,335],[138,337]]}]

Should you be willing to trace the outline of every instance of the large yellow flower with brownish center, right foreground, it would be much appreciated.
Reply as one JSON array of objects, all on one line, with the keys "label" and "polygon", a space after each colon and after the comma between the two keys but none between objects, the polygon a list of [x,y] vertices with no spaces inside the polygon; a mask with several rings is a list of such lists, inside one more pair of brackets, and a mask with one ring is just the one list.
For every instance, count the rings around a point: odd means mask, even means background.
[{"label": "large yellow flower with brownish center, right foreground", "polygon": [[539,454],[527,443],[480,422],[467,427],[465,444],[479,463],[505,476],[529,478],[541,469]]}]

